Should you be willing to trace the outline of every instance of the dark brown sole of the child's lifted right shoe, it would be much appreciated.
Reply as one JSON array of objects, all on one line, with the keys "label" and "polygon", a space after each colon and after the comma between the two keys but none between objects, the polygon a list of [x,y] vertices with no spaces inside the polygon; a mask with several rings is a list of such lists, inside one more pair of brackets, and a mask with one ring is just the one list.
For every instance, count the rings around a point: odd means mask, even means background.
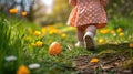
[{"label": "dark brown sole of the child's lifted right shoe", "polygon": [[84,44],[86,50],[94,50],[94,42],[90,35],[84,36]]}]

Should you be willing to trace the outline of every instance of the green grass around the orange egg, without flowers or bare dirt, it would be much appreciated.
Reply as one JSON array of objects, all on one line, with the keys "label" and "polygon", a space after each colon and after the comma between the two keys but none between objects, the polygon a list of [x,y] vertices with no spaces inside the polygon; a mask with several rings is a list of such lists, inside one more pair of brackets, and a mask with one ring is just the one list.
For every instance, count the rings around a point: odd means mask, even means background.
[{"label": "green grass around the orange egg, without flowers or bare dirt", "polygon": [[[92,52],[83,47],[75,47],[75,29],[63,23],[45,27],[47,32],[41,34],[41,38],[38,38],[33,33],[29,33],[29,28],[32,29],[32,32],[41,32],[41,27],[30,23],[25,19],[7,20],[1,17],[0,74],[16,74],[20,65],[24,64],[28,67],[32,63],[39,63],[41,66],[30,70],[31,74],[76,74],[79,71],[72,67],[72,62],[73,57],[79,55],[102,57],[102,55],[108,53],[116,53],[117,55],[127,53],[127,60],[132,60],[133,50],[129,47],[129,43],[133,43],[133,27],[131,23],[133,21],[125,18],[110,20],[104,29],[116,31],[117,28],[122,28],[124,35],[120,36],[119,33],[113,35],[110,32],[102,34],[100,33],[101,30],[98,30],[98,34],[95,35],[96,51]],[[49,32],[54,29],[60,32],[50,34]],[[65,33],[66,36],[62,38],[62,33]],[[103,39],[104,42],[99,43],[99,39]],[[40,47],[32,46],[32,43],[37,41],[42,41],[43,45]],[[63,51],[60,55],[54,56],[48,53],[52,42],[59,42],[62,45]],[[14,55],[17,60],[6,61],[6,56],[10,55]]]}]

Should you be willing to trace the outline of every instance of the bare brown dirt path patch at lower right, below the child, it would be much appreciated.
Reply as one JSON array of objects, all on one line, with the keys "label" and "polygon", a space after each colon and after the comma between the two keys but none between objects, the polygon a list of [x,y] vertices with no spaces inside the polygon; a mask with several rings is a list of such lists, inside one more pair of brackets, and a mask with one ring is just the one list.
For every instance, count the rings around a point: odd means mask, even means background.
[{"label": "bare brown dirt path patch at lower right, below the child", "polygon": [[133,74],[132,70],[121,68],[124,56],[106,54],[99,57],[98,63],[91,63],[91,59],[88,55],[75,56],[73,67],[79,70],[80,74]]}]

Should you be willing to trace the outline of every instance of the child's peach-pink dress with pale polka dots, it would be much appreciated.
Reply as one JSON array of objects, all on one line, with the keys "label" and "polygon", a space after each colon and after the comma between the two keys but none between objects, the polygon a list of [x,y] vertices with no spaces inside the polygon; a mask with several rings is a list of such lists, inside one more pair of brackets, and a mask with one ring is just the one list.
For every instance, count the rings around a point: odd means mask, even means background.
[{"label": "child's peach-pink dress with pale polka dots", "polygon": [[72,27],[94,24],[96,28],[105,27],[106,13],[104,4],[106,0],[69,0],[73,6],[68,24]]}]

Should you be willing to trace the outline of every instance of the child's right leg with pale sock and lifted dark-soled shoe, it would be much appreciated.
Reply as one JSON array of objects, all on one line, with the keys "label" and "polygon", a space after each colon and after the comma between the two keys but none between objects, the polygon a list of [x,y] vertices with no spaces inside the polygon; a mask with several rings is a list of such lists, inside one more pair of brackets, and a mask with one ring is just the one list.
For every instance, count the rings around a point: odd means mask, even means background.
[{"label": "child's right leg with pale sock and lifted dark-soled shoe", "polygon": [[95,25],[89,25],[86,27],[85,34],[84,34],[84,44],[86,50],[94,50],[94,41],[93,38],[96,32],[96,27]]}]

